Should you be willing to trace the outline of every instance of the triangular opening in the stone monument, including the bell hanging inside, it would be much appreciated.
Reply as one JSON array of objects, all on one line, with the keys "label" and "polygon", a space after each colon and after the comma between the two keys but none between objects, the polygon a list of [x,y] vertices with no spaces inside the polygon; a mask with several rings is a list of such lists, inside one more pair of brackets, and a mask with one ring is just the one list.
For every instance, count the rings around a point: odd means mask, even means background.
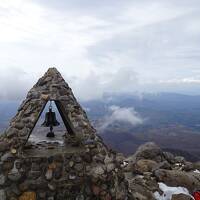
[{"label": "triangular opening in the stone monument, including the bell hanging inside", "polygon": [[60,151],[77,150],[81,146],[69,118],[62,112],[59,101],[49,100],[30,132],[23,154],[36,157],[48,156]]}]

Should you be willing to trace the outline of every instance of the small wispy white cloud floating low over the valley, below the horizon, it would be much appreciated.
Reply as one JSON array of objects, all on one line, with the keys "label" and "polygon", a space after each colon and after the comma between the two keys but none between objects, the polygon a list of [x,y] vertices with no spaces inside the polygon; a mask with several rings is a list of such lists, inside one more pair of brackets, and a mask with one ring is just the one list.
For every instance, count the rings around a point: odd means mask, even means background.
[{"label": "small wispy white cloud floating low over the valley, below the horizon", "polygon": [[132,107],[119,107],[112,105],[109,107],[110,115],[106,116],[100,129],[105,129],[114,122],[126,122],[132,126],[140,125],[144,122],[139,114]]}]

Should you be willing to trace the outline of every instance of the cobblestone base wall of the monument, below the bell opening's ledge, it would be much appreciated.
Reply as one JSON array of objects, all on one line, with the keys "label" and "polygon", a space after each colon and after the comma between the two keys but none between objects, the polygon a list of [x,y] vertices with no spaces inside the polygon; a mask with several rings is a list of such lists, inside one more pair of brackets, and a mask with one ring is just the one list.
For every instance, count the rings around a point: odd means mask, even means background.
[{"label": "cobblestone base wall of the monument, below the bell opening's ledge", "polygon": [[[7,152],[0,161],[1,200],[126,199],[123,157],[100,143],[50,156]],[[32,149],[24,150],[30,152]],[[44,149],[48,151],[48,149]]]}]

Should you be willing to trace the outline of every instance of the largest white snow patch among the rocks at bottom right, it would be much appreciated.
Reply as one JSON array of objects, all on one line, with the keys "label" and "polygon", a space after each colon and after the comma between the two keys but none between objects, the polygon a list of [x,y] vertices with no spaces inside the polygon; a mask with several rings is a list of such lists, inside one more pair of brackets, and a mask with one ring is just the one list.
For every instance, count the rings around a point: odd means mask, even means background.
[{"label": "largest white snow patch among the rocks at bottom right", "polygon": [[[184,187],[169,187],[164,183],[158,183],[159,188],[163,191],[163,194],[160,195],[158,192],[154,193],[154,197],[156,200],[171,200],[173,194],[186,194],[190,195],[189,191]],[[193,198],[191,196],[191,198]]]}]

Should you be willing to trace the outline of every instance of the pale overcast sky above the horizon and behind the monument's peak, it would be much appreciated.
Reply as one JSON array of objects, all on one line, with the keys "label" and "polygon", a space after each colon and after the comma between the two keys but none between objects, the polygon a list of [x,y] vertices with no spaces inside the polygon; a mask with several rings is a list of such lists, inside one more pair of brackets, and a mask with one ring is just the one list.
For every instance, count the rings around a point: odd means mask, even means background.
[{"label": "pale overcast sky above the horizon and behind the monument's peak", "polygon": [[200,94],[199,0],[0,0],[0,100],[56,67],[82,100]]}]

